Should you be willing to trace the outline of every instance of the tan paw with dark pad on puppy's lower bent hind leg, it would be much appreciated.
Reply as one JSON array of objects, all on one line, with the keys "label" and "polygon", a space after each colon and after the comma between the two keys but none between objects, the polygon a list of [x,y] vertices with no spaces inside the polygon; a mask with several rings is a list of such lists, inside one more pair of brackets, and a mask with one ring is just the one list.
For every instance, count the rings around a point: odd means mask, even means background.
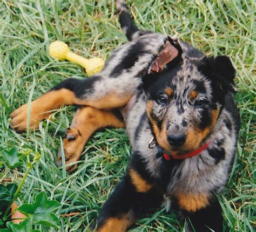
[{"label": "tan paw with dark pad on puppy's lower bent hind leg", "polygon": [[[79,160],[83,152],[84,139],[78,129],[68,128],[66,130],[66,138],[63,140],[63,150],[65,155],[66,171],[73,172],[77,164],[72,165],[72,162]],[[70,165],[69,165],[70,163]],[[57,166],[62,166],[62,149],[59,148]]]}]

